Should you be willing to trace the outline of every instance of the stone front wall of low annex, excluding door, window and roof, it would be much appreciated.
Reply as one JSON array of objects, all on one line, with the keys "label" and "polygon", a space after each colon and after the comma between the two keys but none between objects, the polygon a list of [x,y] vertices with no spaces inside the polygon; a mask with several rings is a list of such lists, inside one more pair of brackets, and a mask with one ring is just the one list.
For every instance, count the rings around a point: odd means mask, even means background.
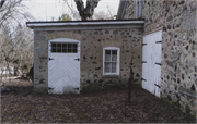
[{"label": "stone front wall of low annex, excluding door, window and roof", "polygon": [[[81,91],[127,85],[131,55],[134,55],[135,82],[141,84],[142,29],[56,30],[34,34],[35,87],[47,88],[48,40],[56,38],[72,38],[81,41]],[[120,48],[119,76],[103,76],[103,48],[105,47]]]}]

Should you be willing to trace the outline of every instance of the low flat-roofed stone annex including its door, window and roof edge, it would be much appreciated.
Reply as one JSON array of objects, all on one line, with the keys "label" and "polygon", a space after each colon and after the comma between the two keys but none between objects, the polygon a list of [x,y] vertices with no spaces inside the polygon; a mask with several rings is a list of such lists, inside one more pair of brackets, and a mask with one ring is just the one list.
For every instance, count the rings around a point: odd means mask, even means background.
[{"label": "low flat-roofed stone annex including its door, window and roof edge", "polygon": [[34,29],[34,87],[50,94],[124,87],[131,55],[141,84],[144,20],[27,22]]}]

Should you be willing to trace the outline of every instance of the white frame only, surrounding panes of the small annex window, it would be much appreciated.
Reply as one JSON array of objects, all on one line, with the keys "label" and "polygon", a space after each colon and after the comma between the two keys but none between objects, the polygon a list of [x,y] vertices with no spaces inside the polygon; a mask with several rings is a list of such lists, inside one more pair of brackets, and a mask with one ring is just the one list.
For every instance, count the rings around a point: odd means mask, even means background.
[{"label": "white frame only, surrounding panes of the small annex window", "polygon": [[[106,50],[117,50],[116,73],[105,73],[105,51]],[[103,75],[119,75],[119,64],[120,64],[119,59],[120,59],[120,48],[116,48],[116,47],[103,48]]]}]

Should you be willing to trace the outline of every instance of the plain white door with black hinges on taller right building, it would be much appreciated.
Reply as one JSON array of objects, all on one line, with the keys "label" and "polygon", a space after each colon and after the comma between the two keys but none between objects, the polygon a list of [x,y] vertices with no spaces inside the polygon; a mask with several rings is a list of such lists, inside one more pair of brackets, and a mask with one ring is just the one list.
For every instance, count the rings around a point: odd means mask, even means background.
[{"label": "plain white door with black hinges on taller right building", "polygon": [[162,30],[143,36],[142,88],[160,97]]}]

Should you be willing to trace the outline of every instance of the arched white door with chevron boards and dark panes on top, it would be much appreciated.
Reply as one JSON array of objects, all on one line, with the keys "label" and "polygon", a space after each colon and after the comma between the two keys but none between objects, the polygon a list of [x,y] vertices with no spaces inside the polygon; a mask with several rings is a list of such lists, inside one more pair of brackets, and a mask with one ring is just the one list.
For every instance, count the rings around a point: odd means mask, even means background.
[{"label": "arched white door with chevron boards and dark panes on top", "polygon": [[48,45],[48,92],[79,94],[80,41],[59,38]]}]

